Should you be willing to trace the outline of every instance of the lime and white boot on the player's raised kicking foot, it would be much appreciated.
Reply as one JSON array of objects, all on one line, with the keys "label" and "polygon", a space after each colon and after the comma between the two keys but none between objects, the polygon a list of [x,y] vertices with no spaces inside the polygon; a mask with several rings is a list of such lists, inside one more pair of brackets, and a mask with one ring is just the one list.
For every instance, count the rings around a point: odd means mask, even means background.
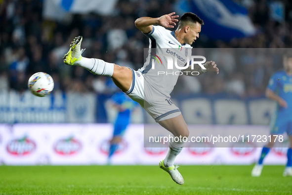
[{"label": "lime and white boot on the player's raised kicking foot", "polygon": [[74,65],[76,61],[81,60],[81,54],[85,49],[81,49],[82,36],[75,37],[71,42],[69,51],[64,55],[64,63]]}]

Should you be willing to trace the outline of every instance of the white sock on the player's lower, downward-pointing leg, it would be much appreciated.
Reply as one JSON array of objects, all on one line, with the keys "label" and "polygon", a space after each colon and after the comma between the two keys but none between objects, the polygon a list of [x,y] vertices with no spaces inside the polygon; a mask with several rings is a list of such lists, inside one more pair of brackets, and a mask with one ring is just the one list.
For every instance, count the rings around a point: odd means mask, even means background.
[{"label": "white sock on the player's lower, downward-pointing leg", "polygon": [[180,153],[185,143],[183,141],[181,142],[174,142],[170,139],[170,142],[168,143],[168,151],[167,156],[165,157],[163,161],[163,165],[167,167],[172,167],[174,160],[176,156]]}]

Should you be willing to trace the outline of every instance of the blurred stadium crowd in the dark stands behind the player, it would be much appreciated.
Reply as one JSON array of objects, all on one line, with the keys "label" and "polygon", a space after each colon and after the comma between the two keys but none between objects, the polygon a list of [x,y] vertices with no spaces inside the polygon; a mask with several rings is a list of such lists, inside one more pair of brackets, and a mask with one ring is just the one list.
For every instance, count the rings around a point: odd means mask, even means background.
[{"label": "blurred stadium crowd in the dark stands behind the player", "polygon": [[[291,48],[290,0],[283,1],[283,21],[270,17],[267,0],[237,1],[247,7],[256,34],[232,39],[228,43],[201,36],[193,44],[194,48]],[[148,48],[149,43],[136,29],[135,19],[170,13],[175,0],[119,0],[114,15],[72,14],[64,21],[43,19],[42,3],[42,0],[0,0],[0,91],[27,90],[28,78],[42,71],[53,77],[54,91],[112,94],[117,88],[111,79],[63,63],[62,57],[70,42],[82,35],[82,48],[86,48],[83,56],[138,69],[143,66],[143,49]],[[200,77],[182,76],[173,95],[184,90],[190,94],[233,94],[242,98],[262,96],[271,74],[282,67],[281,61],[269,63],[269,60],[257,60],[252,53],[247,53],[247,58],[253,60],[238,62],[232,55],[232,49],[225,51],[230,52],[227,59],[216,58],[216,53],[211,59],[220,68],[218,76],[211,73]]]}]

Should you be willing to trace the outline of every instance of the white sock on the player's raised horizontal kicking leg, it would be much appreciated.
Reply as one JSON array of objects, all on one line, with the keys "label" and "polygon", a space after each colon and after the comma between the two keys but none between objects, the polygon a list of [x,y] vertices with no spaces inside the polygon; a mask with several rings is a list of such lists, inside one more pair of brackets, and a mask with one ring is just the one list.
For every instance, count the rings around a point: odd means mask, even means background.
[{"label": "white sock on the player's raised horizontal kicking leg", "polygon": [[74,65],[81,66],[92,74],[105,75],[111,77],[114,73],[114,64],[103,61],[102,59],[82,57]]}]

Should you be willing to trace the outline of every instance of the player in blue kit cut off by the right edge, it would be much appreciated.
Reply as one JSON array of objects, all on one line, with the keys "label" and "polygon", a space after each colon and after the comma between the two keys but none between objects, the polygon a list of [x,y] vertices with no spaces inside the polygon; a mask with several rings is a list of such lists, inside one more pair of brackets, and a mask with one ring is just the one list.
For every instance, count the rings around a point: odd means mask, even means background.
[{"label": "player in blue kit cut off by the right edge", "polygon": [[287,132],[290,147],[287,151],[287,164],[283,176],[292,176],[292,54],[283,57],[284,70],[275,72],[266,89],[266,97],[277,101],[277,109],[270,120],[271,142],[262,148],[257,164],[253,167],[251,175],[259,177],[263,168],[263,160],[274,146],[277,134]]}]

